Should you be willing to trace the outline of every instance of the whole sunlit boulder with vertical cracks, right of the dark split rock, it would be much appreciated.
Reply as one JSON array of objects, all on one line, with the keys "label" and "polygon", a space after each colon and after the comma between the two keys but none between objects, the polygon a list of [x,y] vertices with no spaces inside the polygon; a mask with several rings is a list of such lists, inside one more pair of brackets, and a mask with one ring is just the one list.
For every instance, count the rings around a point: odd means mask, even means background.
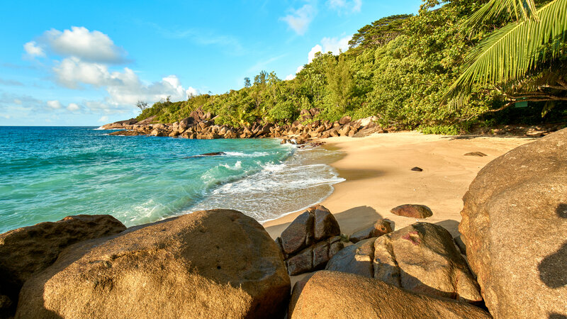
[{"label": "whole sunlit boulder with vertical cracks, right of the dark split rock", "polygon": [[453,237],[430,223],[415,223],[345,247],[326,269],[380,279],[430,296],[482,301],[478,284]]}]

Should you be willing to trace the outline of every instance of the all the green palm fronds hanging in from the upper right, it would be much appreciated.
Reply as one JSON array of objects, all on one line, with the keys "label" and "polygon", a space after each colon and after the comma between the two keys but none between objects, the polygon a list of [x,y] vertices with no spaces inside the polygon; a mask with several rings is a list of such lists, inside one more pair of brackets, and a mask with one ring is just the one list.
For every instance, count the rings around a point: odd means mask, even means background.
[{"label": "all the green palm fronds hanging in from the upper right", "polygon": [[[551,1],[538,10],[534,0],[490,0],[466,24],[474,29],[486,19],[502,14],[515,21],[473,48],[465,58],[465,71],[447,91],[445,101],[453,99],[453,104],[459,106],[475,82],[500,85],[504,90],[517,87],[538,67],[565,55],[567,0]],[[556,84],[556,89],[567,91],[563,79]],[[567,101],[567,97],[556,97]]]}]

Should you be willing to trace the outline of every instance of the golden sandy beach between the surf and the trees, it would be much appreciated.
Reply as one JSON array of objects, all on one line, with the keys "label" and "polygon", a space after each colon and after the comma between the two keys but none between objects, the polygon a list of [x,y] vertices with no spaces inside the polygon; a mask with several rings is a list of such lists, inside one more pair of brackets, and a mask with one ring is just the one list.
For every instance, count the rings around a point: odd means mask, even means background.
[{"label": "golden sandy beach between the surf and the trees", "polygon": [[[535,138],[444,136],[420,133],[375,134],[366,138],[328,138],[327,147],[342,157],[331,165],[340,177],[335,191],[320,204],[337,218],[341,231],[351,235],[387,218],[395,229],[415,223],[415,218],[395,216],[391,208],[405,203],[430,207],[433,216],[423,221],[459,235],[462,198],[468,185],[488,162]],[[486,157],[464,156],[483,152]],[[420,167],[422,172],[412,171]],[[278,237],[302,212],[264,223]]]}]

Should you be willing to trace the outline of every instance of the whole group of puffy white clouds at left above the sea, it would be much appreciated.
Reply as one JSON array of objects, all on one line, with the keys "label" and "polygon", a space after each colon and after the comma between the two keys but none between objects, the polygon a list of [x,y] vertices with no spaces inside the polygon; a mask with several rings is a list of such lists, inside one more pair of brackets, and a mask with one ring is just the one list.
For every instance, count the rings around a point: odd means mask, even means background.
[{"label": "whole group of puffy white clouds at left above the sea", "polygon": [[[145,82],[130,68],[111,69],[112,65],[123,64],[125,51],[113,43],[108,35],[90,31],[84,27],[70,30],[47,30],[36,41],[24,45],[31,57],[45,57],[55,54],[62,60],[55,60],[52,72],[59,84],[68,89],[104,89],[108,93],[101,101],[83,101],[85,111],[97,113],[125,113],[134,109],[137,101],[153,103],[170,96],[172,101],[187,98],[188,94],[198,95],[197,89],[184,89],[175,75],[169,75],[156,82]],[[71,112],[82,111],[78,103],[64,107],[60,101],[47,101],[50,110]]]}]

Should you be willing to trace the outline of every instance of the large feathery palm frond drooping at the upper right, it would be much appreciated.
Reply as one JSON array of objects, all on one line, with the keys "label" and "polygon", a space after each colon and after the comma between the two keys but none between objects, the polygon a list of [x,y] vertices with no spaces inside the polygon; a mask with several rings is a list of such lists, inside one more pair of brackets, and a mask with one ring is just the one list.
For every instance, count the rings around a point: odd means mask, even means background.
[{"label": "large feathery palm frond drooping at the upper right", "polygon": [[474,82],[495,85],[515,81],[539,62],[557,57],[567,37],[567,0],[551,1],[537,15],[538,21],[510,23],[477,45],[465,58],[468,67],[444,101],[468,94]]}]

